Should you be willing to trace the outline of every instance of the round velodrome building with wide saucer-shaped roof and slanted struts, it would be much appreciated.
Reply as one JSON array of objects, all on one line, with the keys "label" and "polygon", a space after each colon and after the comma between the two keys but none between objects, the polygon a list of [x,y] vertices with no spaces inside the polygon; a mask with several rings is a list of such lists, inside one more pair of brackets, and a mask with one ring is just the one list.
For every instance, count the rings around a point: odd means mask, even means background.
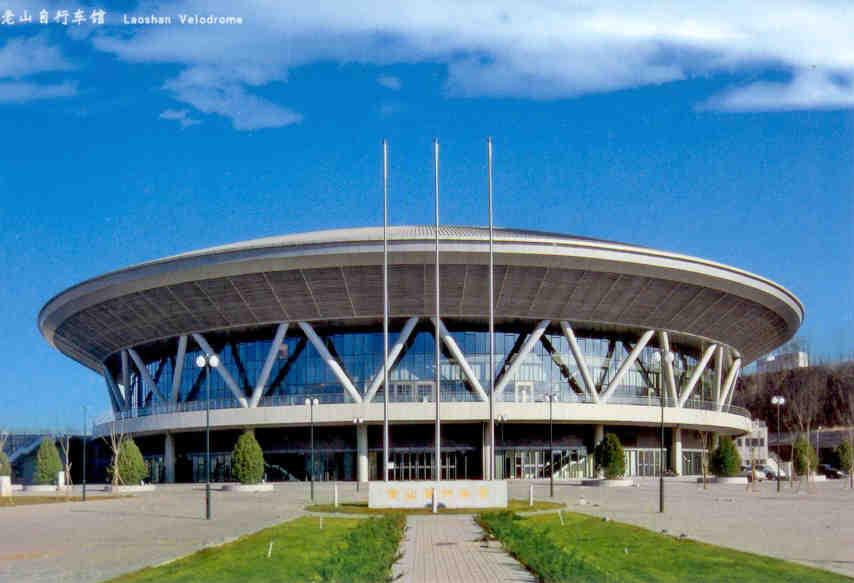
[{"label": "round velodrome building with wide saucer-shaped roof and slanted struts", "polygon": [[[306,398],[319,402],[316,475],[379,479],[384,391],[391,477],[434,479],[435,230],[389,233],[388,387],[382,228],[271,237],[128,267],[54,297],[39,327],[103,375],[112,414],[95,433],[121,424],[154,481],[204,479],[208,407],[214,479],[230,478],[246,428],[265,452],[269,480],[306,479]],[[662,455],[674,473],[698,473],[700,432],[751,428],[748,412],[732,405],[742,367],[791,338],[804,317],[791,292],[741,269],[500,229],[489,370],[488,230],[443,226],[439,237],[446,479],[486,477],[490,456],[497,478],[589,477],[606,432],[620,437],[630,475],[656,474]],[[209,400],[200,354],[221,361]]]}]

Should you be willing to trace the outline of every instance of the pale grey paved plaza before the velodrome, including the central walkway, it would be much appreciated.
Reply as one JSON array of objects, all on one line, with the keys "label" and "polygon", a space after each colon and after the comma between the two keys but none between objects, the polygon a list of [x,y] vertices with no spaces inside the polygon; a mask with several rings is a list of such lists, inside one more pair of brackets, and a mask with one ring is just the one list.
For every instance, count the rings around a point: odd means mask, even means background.
[{"label": "pale grey paved plaza before the velodrome, including the central walkway", "polygon": [[[657,482],[633,488],[558,484],[555,498],[569,509],[655,531],[798,561],[854,576],[854,493],[836,481],[812,491],[774,484],[743,486],[668,481],[666,512]],[[526,498],[527,482],[511,482],[512,498]],[[548,484],[535,495],[548,499]],[[342,500],[365,500],[367,488],[340,486]],[[0,580],[98,581],[220,544],[301,514],[308,487],[279,484],[273,493],[214,493],[214,518],[203,519],[198,485],[161,486],[118,500],[0,508]],[[318,502],[331,501],[319,484]],[[495,543],[486,546],[467,516],[412,516],[395,572],[405,581],[530,580]]]}]

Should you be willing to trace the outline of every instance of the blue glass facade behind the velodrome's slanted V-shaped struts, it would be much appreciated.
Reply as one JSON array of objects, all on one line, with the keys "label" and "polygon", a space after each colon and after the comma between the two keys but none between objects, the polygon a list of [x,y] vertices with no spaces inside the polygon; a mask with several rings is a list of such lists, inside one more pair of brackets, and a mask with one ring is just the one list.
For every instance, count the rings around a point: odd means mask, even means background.
[{"label": "blue glass facade behind the velodrome's slanted V-shaped struts", "polygon": [[[445,324],[468,360],[483,387],[489,385],[489,334],[485,330],[453,328],[452,321]],[[533,328],[520,324],[518,330],[502,329],[496,332],[495,375],[500,378]],[[434,391],[434,339],[432,325],[425,322],[413,331],[401,356],[390,371],[391,401],[432,401]],[[340,362],[357,390],[365,394],[374,376],[381,373],[383,356],[382,333],[373,330],[331,331],[318,330],[322,341]],[[389,335],[390,345],[399,332]],[[249,396],[255,386],[270,350],[273,329],[259,328],[253,333],[209,333],[206,339],[220,357],[221,365]],[[617,374],[620,363],[634,347],[636,338],[611,334],[578,334],[578,343],[594,383],[601,390]],[[176,368],[177,339],[140,349],[151,379],[163,395],[172,392],[172,376]],[[674,374],[677,385],[683,384],[697,366],[702,347],[674,346]],[[204,373],[195,365],[201,349],[189,340],[184,357],[178,403],[205,400]],[[444,401],[477,400],[459,364],[443,345],[441,355],[441,389]],[[121,364],[117,356],[107,361],[107,366],[121,382]],[[626,372],[611,402],[658,404],[657,395],[662,385],[661,351],[651,342],[642,351],[636,363]],[[688,406],[696,401],[714,399],[714,362],[704,371],[694,389]],[[131,409],[138,410],[153,403],[151,387],[130,366]],[[504,401],[541,401],[546,393],[557,392],[562,402],[584,399],[583,380],[573,358],[569,344],[559,330],[549,330],[524,358],[514,378],[497,399]],[[381,388],[376,399],[382,400]],[[349,400],[346,391],[330,370],[316,348],[296,328],[291,327],[273,363],[268,382],[264,387],[261,405],[299,405],[306,396],[317,397],[323,403]],[[210,379],[210,399],[219,407],[237,406],[237,401],[223,376],[213,372]]]}]

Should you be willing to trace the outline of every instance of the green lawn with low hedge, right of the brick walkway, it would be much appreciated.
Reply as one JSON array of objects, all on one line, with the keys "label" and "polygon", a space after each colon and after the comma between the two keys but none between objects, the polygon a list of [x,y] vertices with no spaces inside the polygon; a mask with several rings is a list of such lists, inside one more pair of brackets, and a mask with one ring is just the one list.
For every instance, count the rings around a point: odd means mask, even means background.
[{"label": "green lawn with low hedge, right of the brick walkway", "polygon": [[848,582],[852,579],[750,553],[679,540],[583,514],[478,517],[542,581],[573,582]]}]

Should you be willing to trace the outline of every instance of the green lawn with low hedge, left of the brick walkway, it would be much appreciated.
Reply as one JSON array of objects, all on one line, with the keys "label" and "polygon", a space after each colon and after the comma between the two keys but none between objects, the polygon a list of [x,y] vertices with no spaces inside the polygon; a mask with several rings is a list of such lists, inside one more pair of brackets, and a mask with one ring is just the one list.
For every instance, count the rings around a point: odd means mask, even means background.
[{"label": "green lawn with low hedge, left of the brick walkway", "polygon": [[322,529],[317,517],[302,517],[113,581],[382,581],[403,528],[401,516],[324,518]]}]

